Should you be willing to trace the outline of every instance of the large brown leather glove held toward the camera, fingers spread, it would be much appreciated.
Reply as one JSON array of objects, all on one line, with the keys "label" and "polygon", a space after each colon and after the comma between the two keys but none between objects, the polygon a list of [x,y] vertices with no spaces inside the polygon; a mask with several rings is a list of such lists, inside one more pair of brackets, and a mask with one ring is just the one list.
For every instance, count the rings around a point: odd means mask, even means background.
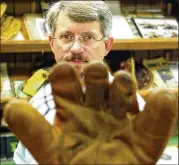
[{"label": "large brown leather glove held toward the camera, fingers spread", "polygon": [[114,77],[110,84],[105,65],[89,64],[83,93],[75,69],[59,63],[49,77],[54,125],[21,100],[5,106],[4,118],[39,164],[155,164],[171,136],[176,98],[157,89],[138,112],[131,75],[118,71]]}]

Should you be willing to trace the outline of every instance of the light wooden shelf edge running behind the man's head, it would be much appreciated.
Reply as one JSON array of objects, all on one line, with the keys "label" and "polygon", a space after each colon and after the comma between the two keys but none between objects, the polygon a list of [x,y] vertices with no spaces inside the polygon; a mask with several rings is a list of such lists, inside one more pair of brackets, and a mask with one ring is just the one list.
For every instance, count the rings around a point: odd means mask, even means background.
[{"label": "light wooden shelf edge running behind the man's head", "polygon": [[[112,50],[166,50],[178,49],[178,38],[115,39]],[[49,41],[1,41],[1,53],[50,52]]]}]

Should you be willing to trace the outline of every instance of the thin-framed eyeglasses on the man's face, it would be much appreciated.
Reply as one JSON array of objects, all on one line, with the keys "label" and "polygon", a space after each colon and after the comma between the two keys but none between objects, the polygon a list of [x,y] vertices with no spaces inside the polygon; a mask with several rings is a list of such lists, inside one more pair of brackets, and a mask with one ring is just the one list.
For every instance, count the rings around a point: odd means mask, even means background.
[{"label": "thin-framed eyeglasses on the man's face", "polygon": [[83,34],[79,37],[75,37],[73,34],[62,34],[58,38],[53,36],[52,38],[57,40],[57,44],[60,47],[71,47],[75,40],[78,40],[81,46],[93,46],[96,42],[105,39],[104,36],[101,39],[97,39],[91,34]]}]

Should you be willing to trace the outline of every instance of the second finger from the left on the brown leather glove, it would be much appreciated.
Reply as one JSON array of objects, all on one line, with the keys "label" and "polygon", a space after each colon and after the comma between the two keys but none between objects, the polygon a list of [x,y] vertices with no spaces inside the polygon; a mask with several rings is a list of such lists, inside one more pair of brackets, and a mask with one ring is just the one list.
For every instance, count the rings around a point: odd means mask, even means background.
[{"label": "second finger from the left on the brown leather glove", "polygon": [[58,63],[52,68],[49,81],[58,112],[57,116],[61,120],[66,120],[70,112],[60,104],[58,97],[77,105],[83,102],[83,93],[76,70],[68,63]]}]

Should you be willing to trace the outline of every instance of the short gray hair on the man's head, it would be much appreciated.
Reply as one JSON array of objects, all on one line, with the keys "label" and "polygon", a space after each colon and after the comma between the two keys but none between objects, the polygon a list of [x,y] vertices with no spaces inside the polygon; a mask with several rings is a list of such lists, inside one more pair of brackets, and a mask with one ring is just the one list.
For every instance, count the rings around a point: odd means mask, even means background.
[{"label": "short gray hair on the man's head", "polygon": [[59,1],[46,12],[46,22],[51,34],[56,30],[56,23],[60,11],[75,22],[99,21],[104,37],[109,37],[112,31],[112,13],[103,1]]}]

